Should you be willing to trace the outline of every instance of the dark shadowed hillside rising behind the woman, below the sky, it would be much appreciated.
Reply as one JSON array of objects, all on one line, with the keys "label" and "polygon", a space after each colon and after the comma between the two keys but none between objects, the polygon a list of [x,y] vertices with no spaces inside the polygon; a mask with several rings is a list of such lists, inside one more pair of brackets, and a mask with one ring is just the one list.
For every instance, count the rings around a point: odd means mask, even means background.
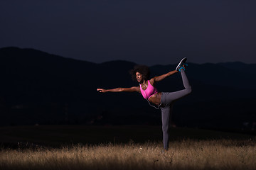
[{"label": "dark shadowed hillside rising behind the woman, below the sky", "polygon": [[[189,60],[188,60],[189,61]],[[193,93],[176,102],[178,126],[247,128],[255,121],[256,64],[188,63]],[[161,113],[136,93],[100,94],[97,88],[137,86],[129,69],[135,63],[102,64],[68,59],[33,49],[0,49],[0,125],[161,124]],[[151,67],[152,77],[176,64]],[[159,91],[183,89],[175,74]],[[246,127],[244,127],[246,128]]]}]

